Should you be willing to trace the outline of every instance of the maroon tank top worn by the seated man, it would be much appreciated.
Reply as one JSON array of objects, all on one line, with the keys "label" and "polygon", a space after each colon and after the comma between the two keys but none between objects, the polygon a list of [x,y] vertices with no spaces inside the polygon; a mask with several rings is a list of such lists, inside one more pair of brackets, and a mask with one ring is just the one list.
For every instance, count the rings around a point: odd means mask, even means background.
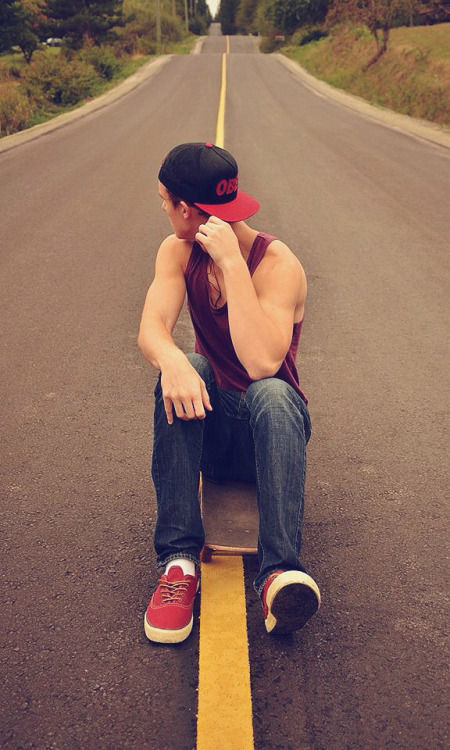
[{"label": "maroon tank top worn by the seated man", "polygon": [[[264,254],[275,237],[260,232],[253,242],[247,259],[250,276],[253,276]],[[195,332],[195,351],[208,359],[214,370],[219,388],[229,391],[246,391],[253,382],[234,351],[228,324],[228,305],[215,308],[210,301],[207,276],[209,256],[194,242],[185,271],[189,312]],[[303,321],[294,323],[289,351],[275,377],[289,383],[308,401],[299,386],[295,358]]]}]

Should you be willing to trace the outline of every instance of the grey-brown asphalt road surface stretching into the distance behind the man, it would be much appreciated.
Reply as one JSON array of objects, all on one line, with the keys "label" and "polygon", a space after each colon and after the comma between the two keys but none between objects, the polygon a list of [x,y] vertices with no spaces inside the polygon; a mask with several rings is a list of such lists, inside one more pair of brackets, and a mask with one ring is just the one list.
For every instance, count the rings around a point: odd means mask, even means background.
[{"label": "grey-brown asphalt road surface stretching into the distance behind the man", "polygon": [[[192,750],[198,627],[149,644],[155,373],[136,333],[168,232],[155,175],[212,140],[225,40],[0,154],[2,750]],[[298,254],[313,438],[304,561],[323,608],[264,630],[258,750],[444,750],[450,151],[231,39],[225,143]],[[189,348],[184,315],[177,331]],[[447,649],[447,653],[446,653]],[[220,750],[220,749],[219,749]],[[238,750],[238,749],[237,749]]]}]

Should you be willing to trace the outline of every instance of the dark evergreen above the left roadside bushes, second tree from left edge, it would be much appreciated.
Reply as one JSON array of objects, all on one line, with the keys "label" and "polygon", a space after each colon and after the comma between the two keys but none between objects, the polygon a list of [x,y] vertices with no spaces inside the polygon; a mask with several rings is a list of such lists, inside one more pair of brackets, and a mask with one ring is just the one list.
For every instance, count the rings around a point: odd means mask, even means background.
[{"label": "dark evergreen above the left roadside bushes, second tree from left edge", "polygon": [[101,44],[122,23],[123,0],[47,0],[47,18],[55,36],[71,49],[85,40]]}]

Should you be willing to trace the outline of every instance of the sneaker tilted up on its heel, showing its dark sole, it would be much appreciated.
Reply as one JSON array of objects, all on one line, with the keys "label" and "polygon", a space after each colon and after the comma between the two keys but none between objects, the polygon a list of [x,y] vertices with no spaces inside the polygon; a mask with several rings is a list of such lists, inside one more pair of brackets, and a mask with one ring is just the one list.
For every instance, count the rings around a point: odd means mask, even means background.
[{"label": "sneaker tilted up on its heel, showing its dark sole", "polygon": [[300,630],[320,607],[317,583],[300,570],[277,570],[262,592],[266,630],[274,635]]}]

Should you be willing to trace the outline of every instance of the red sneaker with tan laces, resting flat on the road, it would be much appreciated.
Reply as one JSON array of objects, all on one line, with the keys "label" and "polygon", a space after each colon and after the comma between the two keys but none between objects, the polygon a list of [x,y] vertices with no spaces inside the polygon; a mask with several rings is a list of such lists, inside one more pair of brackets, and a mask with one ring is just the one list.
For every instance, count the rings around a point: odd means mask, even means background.
[{"label": "red sneaker with tan laces, resting flat on the road", "polygon": [[144,618],[145,635],[156,643],[181,643],[192,630],[198,574],[185,576],[178,565],[161,576]]}]

